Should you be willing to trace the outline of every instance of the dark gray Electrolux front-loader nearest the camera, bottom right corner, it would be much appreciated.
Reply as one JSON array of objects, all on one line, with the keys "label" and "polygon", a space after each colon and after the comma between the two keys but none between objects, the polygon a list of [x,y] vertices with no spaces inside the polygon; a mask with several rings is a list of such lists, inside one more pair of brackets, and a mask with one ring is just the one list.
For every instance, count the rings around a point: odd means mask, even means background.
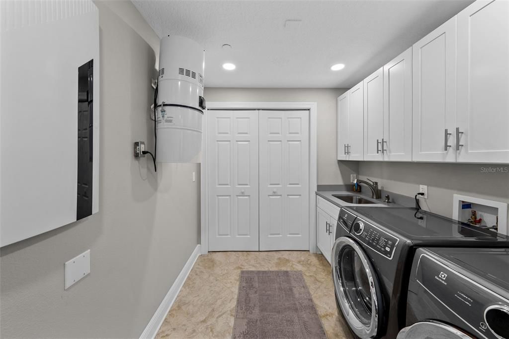
[{"label": "dark gray Electrolux front-loader nearest the camera, bottom right corner", "polygon": [[509,338],[508,249],[418,249],[398,339]]}]

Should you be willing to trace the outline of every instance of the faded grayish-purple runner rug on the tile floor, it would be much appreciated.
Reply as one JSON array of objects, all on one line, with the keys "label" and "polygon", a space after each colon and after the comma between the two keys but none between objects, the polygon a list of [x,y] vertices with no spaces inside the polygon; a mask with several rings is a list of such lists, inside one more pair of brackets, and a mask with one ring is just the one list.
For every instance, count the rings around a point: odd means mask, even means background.
[{"label": "faded grayish-purple runner rug on the tile floor", "polygon": [[301,271],[241,271],[233,338],[327,338]]}]

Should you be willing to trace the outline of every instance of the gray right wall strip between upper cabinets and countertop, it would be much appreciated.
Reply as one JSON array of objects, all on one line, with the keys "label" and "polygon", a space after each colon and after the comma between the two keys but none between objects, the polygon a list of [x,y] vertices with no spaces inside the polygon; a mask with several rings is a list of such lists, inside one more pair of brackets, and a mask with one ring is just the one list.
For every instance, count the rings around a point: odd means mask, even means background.
[{"label": "gray right wall strip between upper cabinets and countertop", "polygon": [[359,162],[359,178],[377,180],[383,189],[414,196],[419,184],[428,185],[421,207],[453,216],[453,195],[461,194],[509,203],[509,173],[486,168],[509,165]]}]

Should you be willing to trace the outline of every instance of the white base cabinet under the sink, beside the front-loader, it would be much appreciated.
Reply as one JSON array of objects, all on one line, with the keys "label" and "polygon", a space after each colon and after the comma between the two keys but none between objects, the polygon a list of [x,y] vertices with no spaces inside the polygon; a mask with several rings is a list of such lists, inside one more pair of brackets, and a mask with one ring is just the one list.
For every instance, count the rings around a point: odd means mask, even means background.
[{"label": "white base cabinet under the sink, beside the front-loader", "polygon": [[317,196],[317,245],[327,261],[331,262],[332,245],[336,234],[337,216],[340,207]]}]

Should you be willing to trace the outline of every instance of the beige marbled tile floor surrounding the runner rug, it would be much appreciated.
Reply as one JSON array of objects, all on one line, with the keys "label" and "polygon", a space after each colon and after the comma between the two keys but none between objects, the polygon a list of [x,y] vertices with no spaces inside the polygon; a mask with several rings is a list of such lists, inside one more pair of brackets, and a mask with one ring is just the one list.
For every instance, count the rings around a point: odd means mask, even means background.
[{"label": "beige marbled tile floor surrounding the runner rug", "polygon": [[200,256],[157,338],[231,338],[240,271],[301,270],[329,339],[351,338],[337,315],[330,265],[303,251],[211,252]]}]

